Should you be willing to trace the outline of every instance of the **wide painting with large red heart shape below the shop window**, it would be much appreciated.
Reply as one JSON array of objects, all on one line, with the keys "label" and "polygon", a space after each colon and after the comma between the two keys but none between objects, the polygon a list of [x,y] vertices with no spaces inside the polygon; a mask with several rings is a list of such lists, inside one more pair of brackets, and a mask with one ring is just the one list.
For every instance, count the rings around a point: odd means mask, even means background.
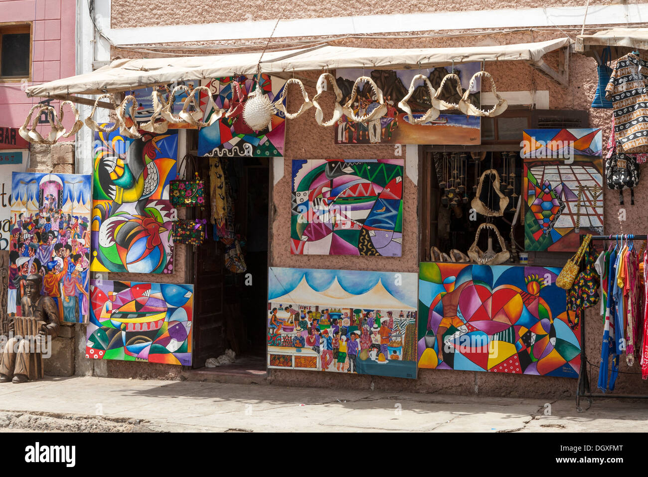
[{"label": "wide painting with large red heart shape below the shop window", "polygon": [[560,271],[421,263],[419,368],[576,378],[581,331]]}]

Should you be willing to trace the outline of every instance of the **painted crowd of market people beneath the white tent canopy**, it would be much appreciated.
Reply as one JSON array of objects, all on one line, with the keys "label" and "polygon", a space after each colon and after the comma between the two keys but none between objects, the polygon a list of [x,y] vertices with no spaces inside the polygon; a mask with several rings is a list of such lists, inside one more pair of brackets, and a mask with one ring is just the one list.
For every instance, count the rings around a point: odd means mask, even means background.
[{"label": "painted crowd of market people beneath the white tent canopy", "polygon": [[[296,308],[295,308],[296,307]],[[321,371],[358,372],[358,359],[375,363],[412,361],[416,312],[360,310],[273,304],[268,345],[308,348],[319,356]],[[414,350],[415,351],[415,350]]]}]

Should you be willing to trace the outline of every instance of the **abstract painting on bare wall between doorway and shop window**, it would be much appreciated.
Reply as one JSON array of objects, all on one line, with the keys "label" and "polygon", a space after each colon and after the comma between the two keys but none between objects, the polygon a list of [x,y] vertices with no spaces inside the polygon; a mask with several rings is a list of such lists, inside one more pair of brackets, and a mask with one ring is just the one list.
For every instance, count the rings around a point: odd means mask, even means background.
[{"label": "abstract painting on bare wall between doorway and shop window", "polygon": [[293,160],[290,252],[399,257],[403,160]]}]

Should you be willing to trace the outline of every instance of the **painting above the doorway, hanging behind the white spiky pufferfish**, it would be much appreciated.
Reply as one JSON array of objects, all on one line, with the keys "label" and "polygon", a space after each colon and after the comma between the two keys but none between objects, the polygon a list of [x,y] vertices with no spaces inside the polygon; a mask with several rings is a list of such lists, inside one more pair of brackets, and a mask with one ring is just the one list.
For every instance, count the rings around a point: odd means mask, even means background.
[{"label": "painting above the doorway, hanging behind the white spiky pufferfish", "polygon": [[[240,85],[240,97],[233,97],[234,81]],[[285,84],[286,80],[277,77],[265,74],[260,76],[260,86],[270,101],[275,101],[281,95]],[[216,106],[227,110],[246,101],[248,94],[257,88],[257,75],[216,78],[203,82],[203,85],[211,91]],[[285,132],[286,117],[283,112],[277,110],[272,116],[270,127],[257,132],[245,123],[240,109],[233,116],[222,117],[198,132],[198,156],[281,157]]]}]

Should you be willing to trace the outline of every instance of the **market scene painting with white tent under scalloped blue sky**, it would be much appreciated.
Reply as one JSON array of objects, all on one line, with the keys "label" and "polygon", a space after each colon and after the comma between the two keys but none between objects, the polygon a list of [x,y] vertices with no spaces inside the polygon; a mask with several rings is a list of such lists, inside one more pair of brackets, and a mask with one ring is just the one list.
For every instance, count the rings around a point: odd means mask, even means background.
[{"label": "market scene painting with white tent under scalloped blue sky", "polygon": [[268,278],[269,367],[416,378],[415,273],[270,267]]}]

